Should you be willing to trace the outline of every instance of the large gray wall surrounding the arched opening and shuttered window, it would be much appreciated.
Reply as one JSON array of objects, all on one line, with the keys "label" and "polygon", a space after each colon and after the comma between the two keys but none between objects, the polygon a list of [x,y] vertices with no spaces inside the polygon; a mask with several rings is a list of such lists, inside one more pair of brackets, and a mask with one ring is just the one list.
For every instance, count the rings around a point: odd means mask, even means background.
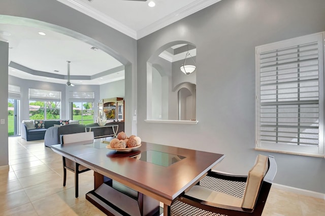
[{"label": "large gray wall surrounding the arched opening and shuttered window", "polygon": [[[138,135],[225,154],[216,168],[239,174],[257,154],[274,155],[275,183],[325,193],[325,159],[254,150],[255,46],[324,31],[324,11],[324,0],[223,0],[138,40]],[[197,47],[199,123],[146,123],[146,61],[179,40]]]}]

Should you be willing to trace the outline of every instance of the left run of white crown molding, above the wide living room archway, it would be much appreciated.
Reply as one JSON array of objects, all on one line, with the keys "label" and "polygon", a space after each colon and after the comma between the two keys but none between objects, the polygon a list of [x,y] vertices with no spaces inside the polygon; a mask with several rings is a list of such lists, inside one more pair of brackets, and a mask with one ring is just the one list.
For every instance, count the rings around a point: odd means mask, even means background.
[{"label": "left run of white crown molding, above the wide living room archway", "polygon": [[83,2],[77,1],[77,0],[56,0],[64,5],[69,6],[70,8],[73,8],[91,18],[94,18],[95,20],[98,20],[105,25],[108,25],[133,39],[137,39],[137,32],[133,30],[132,28],[127,27],[126,25],[118,22],[117,20],[107,16],[106,14],[94,9],[89,8],[89,6]]}]

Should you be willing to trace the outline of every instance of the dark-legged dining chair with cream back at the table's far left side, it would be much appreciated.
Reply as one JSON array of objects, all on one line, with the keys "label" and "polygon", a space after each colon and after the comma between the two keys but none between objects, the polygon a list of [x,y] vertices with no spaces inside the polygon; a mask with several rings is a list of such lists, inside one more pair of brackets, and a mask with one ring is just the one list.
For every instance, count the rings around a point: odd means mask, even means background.
[{"label": "dark-legged dining chair with cream back at the table's far left side", "polygon": [[[60,141],[62,145],[84,145],[93,143],[94,135],[93,132],[82,132],[61,135]],[[63,187],[66,186],[67,182],[67,169],[75,173],[75,194],[78,197],[78,174],[88,171],[87,167],[84,167],[73,160],[63,157]]]}]

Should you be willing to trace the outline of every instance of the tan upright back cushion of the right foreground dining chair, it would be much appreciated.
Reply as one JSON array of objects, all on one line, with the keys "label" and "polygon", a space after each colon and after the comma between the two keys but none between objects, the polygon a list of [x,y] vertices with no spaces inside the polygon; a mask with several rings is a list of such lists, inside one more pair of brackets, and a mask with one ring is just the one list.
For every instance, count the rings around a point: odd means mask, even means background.
[{"label": "tan upright back cushion of the right foreground dining chair", "polygon": [[257,155],[255,165],[249,171],[247,176],[246,188],[243,196],[242,207],[253,209],[262,184],[263,178],[268,171],[268,157]]}]

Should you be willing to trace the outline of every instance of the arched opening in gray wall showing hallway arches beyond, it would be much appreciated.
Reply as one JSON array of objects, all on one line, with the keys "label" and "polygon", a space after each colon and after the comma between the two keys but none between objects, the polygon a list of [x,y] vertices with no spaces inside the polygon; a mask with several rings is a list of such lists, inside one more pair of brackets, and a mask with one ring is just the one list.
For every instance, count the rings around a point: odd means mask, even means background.
[{"label": "arched opening in gray wall showing hallway arches beyond", "polygon": [[196,46],[174,41],[157,49],[147,61],[146,122],[196,124],[197,70],[180,70],[187,51],[196,59]]}]

